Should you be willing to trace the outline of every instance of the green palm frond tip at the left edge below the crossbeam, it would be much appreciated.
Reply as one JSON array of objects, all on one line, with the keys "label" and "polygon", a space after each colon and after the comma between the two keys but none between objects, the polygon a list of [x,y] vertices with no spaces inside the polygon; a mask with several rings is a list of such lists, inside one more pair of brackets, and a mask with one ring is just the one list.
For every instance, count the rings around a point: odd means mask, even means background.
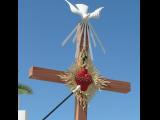
[{"label": "green palm frond tip at the left edge below the crossbeam", "polygon": [[23,84],[18,84],[18,94],[32,94],[32,89]]}]

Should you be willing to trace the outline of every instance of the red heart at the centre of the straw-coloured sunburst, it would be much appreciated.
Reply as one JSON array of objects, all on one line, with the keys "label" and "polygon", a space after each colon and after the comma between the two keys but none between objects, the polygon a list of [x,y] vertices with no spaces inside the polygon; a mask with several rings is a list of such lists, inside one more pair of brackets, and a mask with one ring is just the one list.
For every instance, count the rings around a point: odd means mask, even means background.
[{"label": "red heart at the centre of the straw-coloured sunburst", "polygon": [[92,76],[88,73],[86,68],[82,68],[77,72],[75,80],[77,85],[81,86],[81,90],[86,91],[88,86],[92,83]]}]

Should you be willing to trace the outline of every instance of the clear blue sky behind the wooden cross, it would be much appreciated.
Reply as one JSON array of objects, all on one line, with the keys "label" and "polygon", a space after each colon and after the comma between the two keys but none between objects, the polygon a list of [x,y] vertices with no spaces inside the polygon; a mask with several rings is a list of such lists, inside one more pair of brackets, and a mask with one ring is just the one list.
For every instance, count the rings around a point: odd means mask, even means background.
[{"label": "clear blue sky behind the wooden cross", "polygon": [[[72,41],[61,43],[80,17],[70,12],[64,0],[18,0],[18,77],[33,89],[21,95],[19,109],[29,120],[42,119],[70,90],[58,83],[30,80],[31,66],[66,70],[74,62]],[[88,108],[88,120],[140,119],[140,4],[139,0],[70,0],[85,3],[89,12],[103,6],[100,19],[91,20],[106,48],[93,49],[94,64],[108,78],[131,82],[131,92],[97,92]],[[68,99],[48,120],[74,120],[74,97]]]}]

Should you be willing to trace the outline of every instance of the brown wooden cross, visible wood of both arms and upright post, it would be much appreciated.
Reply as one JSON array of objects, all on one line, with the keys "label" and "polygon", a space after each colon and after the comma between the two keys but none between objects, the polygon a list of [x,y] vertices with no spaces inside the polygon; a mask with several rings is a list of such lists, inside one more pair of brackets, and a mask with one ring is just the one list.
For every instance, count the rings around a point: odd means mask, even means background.
[{"label": "brown wooden cross, visible wood of both arms and upright post", "polygon": [[[79,27],[80,28],[80,27]],[[81,36],[80,29],[77,28],[77,41],[80,40],[80,50],[83,48],[83,36]],[[88,50],[88,42],[89,42],[89,36],[87,36],[86,41],[86,50]],[[29,70],[29,78],[31,79],[37,79],[37,80],[44,80],[49,82],[57,82],[65,84],[65,82],[58,76],[58,75],[65,75],[64,71],[59,70],[51,70],[46,68],[40,68],[40,67],[31,67]],[[107,86],[102,88],[102,90],[109,90],[113,92],[119,92],[119,93],[128,93],[130,91],[130,83],[129,82],[123,82],[119,80],[111,80],[107,78],[102,78],[104,80],[107,80],[110,82]],[[87,120],[87,109],[84,111],[81,107],[79,101],[75,98],[75,120]]]}]

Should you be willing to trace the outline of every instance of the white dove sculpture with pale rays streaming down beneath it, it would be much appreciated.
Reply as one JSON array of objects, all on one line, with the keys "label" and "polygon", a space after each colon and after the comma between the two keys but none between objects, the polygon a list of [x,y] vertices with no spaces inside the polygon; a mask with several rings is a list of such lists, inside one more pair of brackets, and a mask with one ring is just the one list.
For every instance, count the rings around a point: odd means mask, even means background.
[{"label": "white dove sculpture with pale rays streaming down beneath it", "polygon": [[[74,14],[80,15],[82,17],[82,20],[72,30],[72,32],[66,37],[66,39],[62,43],[62,46],[64,46],[68,42],[68,40],[72,37],[72,35],[76,32],[77,27],[81,26],[81,29],[82,29],[81,30],[82,31],[81,32],[81,36],[82,36],[82,34],[84,34],[83,46],[86,45],[86,34],[88,34],[92,38],[94,47],[96,47],[96,41],[97,41],[99,43],[101,49],[105,53],[105,49],[103,47],[103,44],[99,40],[99,38],[98,38],[96,32],[94,31],[92,25],[90,23],[88,23],[88,20],[91,19],[91,18],[99,18],[100,12],[104,7],[100,7],[98,9],[96,9],[95,11],[93,11],[92,13],[88,13],[88,6],[87,5],[85,5],[85,4],[76,4],[74,6],[68,0],[65,0],[65,1],[69,5],[71,12],[74,13]],[[76,36],[77,36],[77,33],[73,37],[73,43],[76,41]],[[80,48],[79,45],[80,45],[80,43],[77,41],[77,44],[76,44],[76,55],[75,55],[76,58],[77,58],[77,55],[79,53],[79,48]],[[92,47],[91,47],[90,41],[89,41],[89,51],[90,51],[91,59],[93,60]]]}]

